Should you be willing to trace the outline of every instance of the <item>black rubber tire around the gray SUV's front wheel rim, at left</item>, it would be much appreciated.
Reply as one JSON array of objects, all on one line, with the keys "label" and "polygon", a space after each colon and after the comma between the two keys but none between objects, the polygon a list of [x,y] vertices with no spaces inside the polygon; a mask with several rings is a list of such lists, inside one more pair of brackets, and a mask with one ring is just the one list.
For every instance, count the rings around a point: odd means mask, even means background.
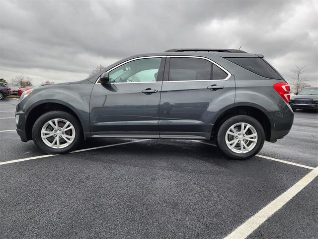
[{"label": "black rubber tire around the gray SUV's front wheel rim, at left", "polygon": [[[73,124],[75,128],[75,138],[70,145],[65,148],[52,148],[44,143],[41,137],[41,129],[49,120],[51,119],[65,119]],[[76,148],[78,148],[79,144],[83,139],[82,127],[79,120],[73,115],[64,112],[64,111],[50,111],[37,119],[32,128],[32,138],[34,143],[45,153],[49,154],[61,154],[68,153]]]}]

